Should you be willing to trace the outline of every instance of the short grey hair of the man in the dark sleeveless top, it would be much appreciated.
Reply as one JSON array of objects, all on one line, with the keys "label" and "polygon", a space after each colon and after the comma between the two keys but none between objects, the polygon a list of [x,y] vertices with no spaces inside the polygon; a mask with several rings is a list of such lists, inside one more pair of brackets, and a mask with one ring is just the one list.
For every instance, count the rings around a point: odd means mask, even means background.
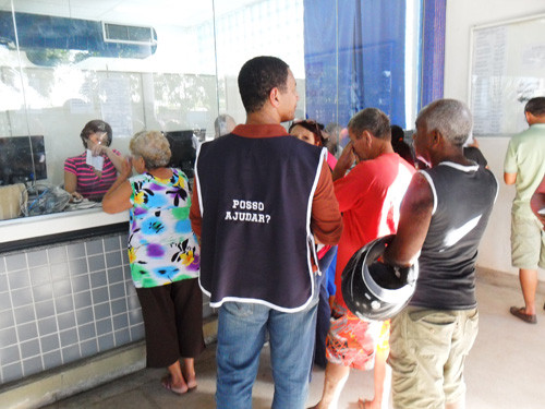
[{"label": "short grey hair of the man in the dark sleeveless top", "polygon": [[455,146],[463,146],[473,129],[468,105],[458,99],[437,99],[422,108],[416,124],[426,121],[428,131],[437,131]]}]

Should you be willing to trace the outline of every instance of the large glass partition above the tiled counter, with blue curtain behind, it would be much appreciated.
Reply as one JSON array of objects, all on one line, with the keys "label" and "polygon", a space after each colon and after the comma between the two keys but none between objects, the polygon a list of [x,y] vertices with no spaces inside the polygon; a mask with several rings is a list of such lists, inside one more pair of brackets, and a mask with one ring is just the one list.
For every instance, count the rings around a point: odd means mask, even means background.
[{"label": "large glass partition above the tiled counter, with blue curtain behind", "polygon": [[[87,161],[81,133],[90,120],[111,125],[121,155],[143,129],[190,134],[194,147],[215,137],[219,115],[244,122],[237,76],[259,55],[293,71],[296,118],[342,128],[371,104],[410,127],[421,0],[397,3],[393,31],[389,9],[364,0],[351,2],[355,12],[328,0],[1,2],[0,226],[36,200],[47,204],[64,187],[68,158]],[[100,208],[90,201],[62,212],[93,206]]]}]

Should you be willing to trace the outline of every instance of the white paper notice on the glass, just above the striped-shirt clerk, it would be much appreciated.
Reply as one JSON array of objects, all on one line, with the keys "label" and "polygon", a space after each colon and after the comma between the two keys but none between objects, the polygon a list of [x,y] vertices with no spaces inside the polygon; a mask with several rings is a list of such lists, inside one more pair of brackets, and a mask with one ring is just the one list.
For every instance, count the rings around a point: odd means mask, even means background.
[{"label": "white paper notice on the glass, just above the striped-shirt clerk", "polygon": [[100,81],[100,110],[116,137],[133,134],[131,86],[129,79],[117,76]]}]

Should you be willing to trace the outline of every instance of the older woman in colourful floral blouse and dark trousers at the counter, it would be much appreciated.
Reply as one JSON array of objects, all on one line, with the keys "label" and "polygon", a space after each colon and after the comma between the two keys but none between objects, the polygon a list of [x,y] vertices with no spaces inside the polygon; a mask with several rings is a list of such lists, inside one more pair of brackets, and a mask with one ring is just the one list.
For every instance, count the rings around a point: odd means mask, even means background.
[{"label": "older woman in colourful floral blouse and dark trousers at the counter", "polygon": [[[199,248],[189,220],[187,178],[166,167],[170,147],[160,132],[140,132],[129,147],[132,157],[123,161],[102,208],[130,209],[129,261],[144,317],[147,366],[167,366],[162,386],[184,394],[197,385],[194,358],[205,347],[196,279]],[[129,179],[132,167],[141,175]]]}]

